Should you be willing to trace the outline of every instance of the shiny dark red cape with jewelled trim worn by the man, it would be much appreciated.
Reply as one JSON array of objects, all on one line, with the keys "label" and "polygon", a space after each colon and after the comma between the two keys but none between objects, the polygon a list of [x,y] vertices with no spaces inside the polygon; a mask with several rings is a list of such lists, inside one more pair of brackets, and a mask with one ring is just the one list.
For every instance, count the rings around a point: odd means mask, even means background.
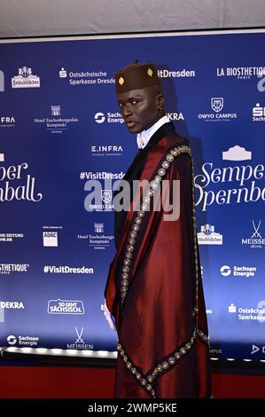
[{"label": "shiny dark red cape with jewelled trim worn by the man", "polygon": [[179,179],[180,216],[131,207],[105,287],[119,337],[114,397],[211,396],[191,150],[168,126],[145,151],[140,178]]}]

